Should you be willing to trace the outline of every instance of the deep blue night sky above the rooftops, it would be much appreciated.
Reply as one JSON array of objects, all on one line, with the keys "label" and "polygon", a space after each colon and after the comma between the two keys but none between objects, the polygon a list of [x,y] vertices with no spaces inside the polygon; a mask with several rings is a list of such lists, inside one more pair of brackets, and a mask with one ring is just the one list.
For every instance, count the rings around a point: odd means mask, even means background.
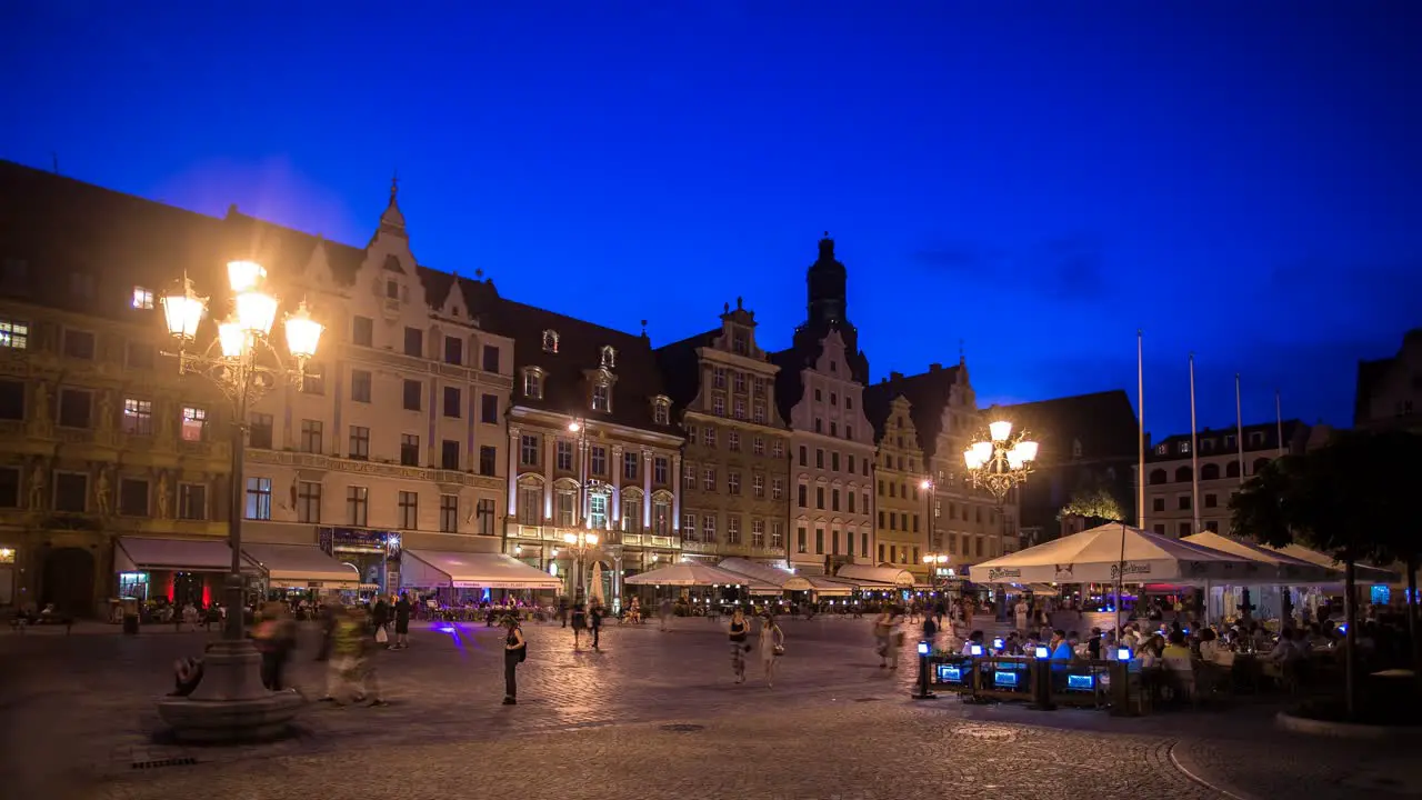
[{"label": "deep blue night sky above the rooftops", "polygon": [[421,262],[656,343],[786,346],[830,231],[876,379],[1135,396],[1143,327],[1156,436],[1192,350],[1348,424],[1422,325],[1422,3],[464,6],[6,4],[0,158],[354,243],[398,168]]}]

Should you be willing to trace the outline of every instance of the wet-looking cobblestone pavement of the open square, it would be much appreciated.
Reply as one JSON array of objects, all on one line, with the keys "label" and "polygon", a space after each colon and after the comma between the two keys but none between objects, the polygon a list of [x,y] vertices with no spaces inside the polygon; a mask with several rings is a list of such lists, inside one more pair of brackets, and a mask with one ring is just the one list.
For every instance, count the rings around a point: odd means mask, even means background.
[{"label": "wet-looking cobblestone pavement of the open square", "polygon": [[[519,705],[501,706],[498,629],[417,623],[408,651],[377,658],[388,707],[313,705],[300,736],[245,747],[155,740],[154,699],[169,689],[172,659],[198,651],[202,633],[0,638],[0,713],[10,723],[0,726],[0,773],[7,797],[115,800],[195,791],[1378,800],[1422,789],[1399,746],[1287,736],[1273,730],[1271,707],[1115,719],[914,703],[913,662],[906,655],[897,673],[880,670],[867,621],[785,628],[789,652],[766,689],[755,680],[758,653],[752,682],[732,683],[722,633],[705,621],[678,621],[671,633],[609,628],[602,653],[573,652],[567,631],[533,625]],[[293,679],[314,696],[323,665],[311,652],[299,655]],[[158,766],[169,759],[195,766]]]}]

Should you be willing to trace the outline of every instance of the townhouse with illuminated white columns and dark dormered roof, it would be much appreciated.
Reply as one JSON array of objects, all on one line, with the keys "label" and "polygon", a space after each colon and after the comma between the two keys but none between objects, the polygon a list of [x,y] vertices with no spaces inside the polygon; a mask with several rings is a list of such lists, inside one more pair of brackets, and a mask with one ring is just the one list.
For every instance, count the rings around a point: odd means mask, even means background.
[{"label": "townhouse with illuminated white columns and dark dormered roof", "polygon": [[516,370],[506,552],[570,575],[566,538],[596,532],[582,559],[603,567],[602,585],[589,594],[617,601],[624,575],[681,555],[683,437],[650,340],[510,300],[493,325],[513,339]]}]

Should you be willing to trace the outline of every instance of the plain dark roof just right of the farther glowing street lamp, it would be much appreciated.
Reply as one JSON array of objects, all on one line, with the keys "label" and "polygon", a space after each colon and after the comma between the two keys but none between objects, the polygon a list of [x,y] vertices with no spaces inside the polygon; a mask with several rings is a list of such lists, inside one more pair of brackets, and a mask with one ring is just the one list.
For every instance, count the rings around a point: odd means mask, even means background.
[{"label": "plain dark roof just right of the farther glowing street lamp", "polygon": [[1081,460],[1135,460],[1139,456],[1140,423],[1130,397],[1121,389],[1000,406],[997,413],[1037,440],[1042,465],[1072,460],[1076,441],[1081,443]]}]

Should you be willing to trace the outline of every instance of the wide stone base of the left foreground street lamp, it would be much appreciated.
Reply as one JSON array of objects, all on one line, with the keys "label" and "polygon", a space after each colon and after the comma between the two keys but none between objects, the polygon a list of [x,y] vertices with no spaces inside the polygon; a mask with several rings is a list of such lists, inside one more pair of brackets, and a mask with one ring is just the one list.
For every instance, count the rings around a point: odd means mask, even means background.
[{"label": "wide stone base of the left foreground street lamp", "polygon": [[218,642],[203,655],[202,682],[188,698],[164,698],[158,716],[181,742],[253,742],[286,732],[306,700],[262,686],[262,655],[249,641]]}]

